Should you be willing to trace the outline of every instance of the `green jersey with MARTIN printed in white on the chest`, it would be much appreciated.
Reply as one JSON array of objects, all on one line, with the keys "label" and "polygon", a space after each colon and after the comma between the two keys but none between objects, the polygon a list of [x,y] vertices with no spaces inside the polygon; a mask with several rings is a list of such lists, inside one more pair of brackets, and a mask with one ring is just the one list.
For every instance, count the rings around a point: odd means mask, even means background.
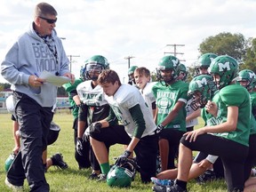
[{"label": "green jersey with MARTIN printed in white on the chest", "polygon": [[166,116],[172,112],[172,108],[174,108],[178,101],[184,102],[184,106],[180,109],[178,115],[165,127],[186,132],[188,83],[177,81],[173,84],[165,86],[158,82],[153,86],[152,92],[156,98],[156,106],[158,108],[157,124],[161,124],[164,121]]}]

